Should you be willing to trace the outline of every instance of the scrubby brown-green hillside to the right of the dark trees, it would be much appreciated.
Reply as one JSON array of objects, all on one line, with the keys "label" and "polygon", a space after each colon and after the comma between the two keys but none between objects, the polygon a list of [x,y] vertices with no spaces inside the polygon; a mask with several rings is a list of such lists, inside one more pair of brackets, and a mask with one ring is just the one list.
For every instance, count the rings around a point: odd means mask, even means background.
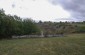
[{"label": "scrubby brown-green hillside to the right of the dark trees", "polygon": [[85,33],[85,22],[39,21],[38,25],[43,29],[44,34]]}]

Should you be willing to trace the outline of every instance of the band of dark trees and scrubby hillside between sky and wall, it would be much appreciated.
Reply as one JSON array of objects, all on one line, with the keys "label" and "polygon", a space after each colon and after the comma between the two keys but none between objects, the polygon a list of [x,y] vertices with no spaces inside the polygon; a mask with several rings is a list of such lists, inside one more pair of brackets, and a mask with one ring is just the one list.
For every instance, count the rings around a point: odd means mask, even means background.
[{"label": "band of dark trees and scrubby hillside between sky and wall", "polygon": [[69,33],[85,33],[85,21],[83,22],[35,22],[30,18],[22,19],[16,15],[6,15],[0,10],[0,39],[12,38],[13,35],[57,35]]}]

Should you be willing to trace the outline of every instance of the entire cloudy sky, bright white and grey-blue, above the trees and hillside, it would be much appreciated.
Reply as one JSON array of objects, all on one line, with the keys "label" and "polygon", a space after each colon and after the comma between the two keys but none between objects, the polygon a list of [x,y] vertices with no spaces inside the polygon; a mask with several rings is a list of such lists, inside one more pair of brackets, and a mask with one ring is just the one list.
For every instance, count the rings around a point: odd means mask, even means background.
[{"label": "entire cloudy sky, bright white and grey-blue, above the trees and hillside", "polygon": [[36,21],[85,20],[85,0],[0,0],[0,8]]}]

